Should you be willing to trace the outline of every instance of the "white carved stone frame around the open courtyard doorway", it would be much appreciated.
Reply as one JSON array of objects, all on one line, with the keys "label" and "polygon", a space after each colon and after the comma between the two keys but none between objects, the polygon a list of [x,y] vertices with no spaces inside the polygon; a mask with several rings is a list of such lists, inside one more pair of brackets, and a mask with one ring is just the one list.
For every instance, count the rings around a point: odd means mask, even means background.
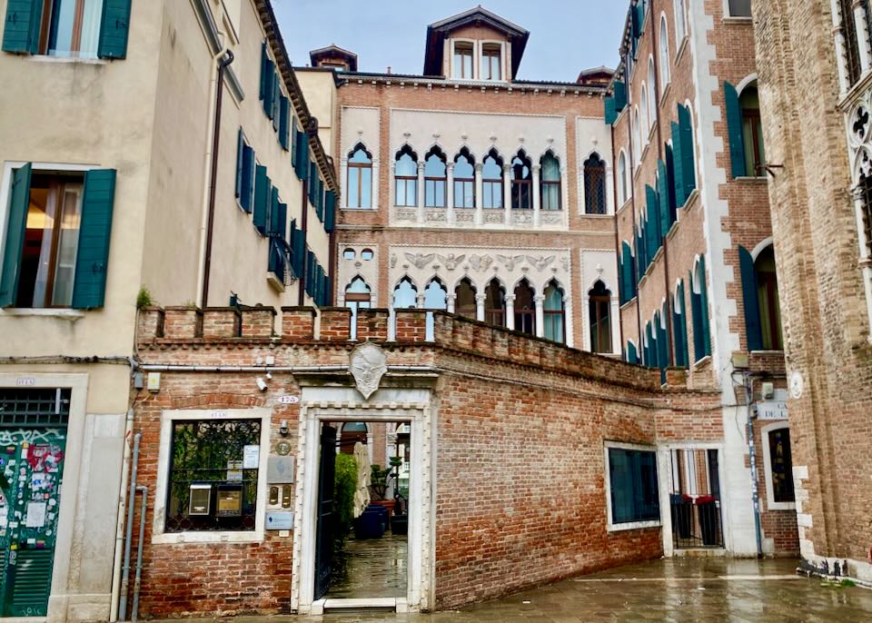
[{"label": "white carved stone frame around the open courtyard doorway", "polygon": [[[379,401],[382,393],[390,393],[391,396],[385,398],[391,398],[391,401]],[[411,424],[406,599],[411,612],[432,608],[435,588],[435,479],[429,393],[421,390],[382,390],[373,394],[372,402],[361,402],[360,394],[351,388],[302,388],[294,504],[292,611],[310,614],[314,603],[318,472],[323,421],[407,421]],[[400,398],[401,394],[416,400],[393,400]],[[333,400],[325,401],[324,398],[328,396]],[[315,398],[319,400],[313,400]]]}]

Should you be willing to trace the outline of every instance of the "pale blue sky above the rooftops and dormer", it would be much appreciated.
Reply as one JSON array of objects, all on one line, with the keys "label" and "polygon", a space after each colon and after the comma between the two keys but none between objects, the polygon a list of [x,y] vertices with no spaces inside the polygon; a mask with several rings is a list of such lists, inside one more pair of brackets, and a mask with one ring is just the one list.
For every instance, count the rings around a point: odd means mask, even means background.
[{"label": "pale blue sky above the rooftops and dormer", "polygon": [[[421,74],[427,25],[481,0],[272,0],[294,65],[337,44],[362,72]],[[490,0],[491,13],[530,31],[520,80],[574,82],[580,70],[618,64],[629,0]],[[561,43],[557,43],[561,42]]]}]

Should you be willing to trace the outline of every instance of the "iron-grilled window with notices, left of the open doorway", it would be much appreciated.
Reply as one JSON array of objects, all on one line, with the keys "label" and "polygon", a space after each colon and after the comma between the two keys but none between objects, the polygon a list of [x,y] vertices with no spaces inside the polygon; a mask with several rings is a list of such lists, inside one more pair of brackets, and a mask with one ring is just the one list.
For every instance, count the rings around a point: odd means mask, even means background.
[{"label": "iron-grilled window with notices, left of the open doorway", "polygon": [[258,469],[245,455],[260,442],[261,420],[173,421],[164,531],[253,530]]}]

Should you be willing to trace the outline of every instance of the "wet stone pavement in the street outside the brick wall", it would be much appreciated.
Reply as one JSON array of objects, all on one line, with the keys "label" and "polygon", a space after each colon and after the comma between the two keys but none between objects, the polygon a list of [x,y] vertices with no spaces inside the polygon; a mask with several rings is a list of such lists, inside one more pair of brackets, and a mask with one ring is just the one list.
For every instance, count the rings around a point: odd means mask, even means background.
[{"label": "wet stone pavement in the street outside the brick wall", "polygon": [[872,590],[797,576],[796,560],[666,559],[428,615],[342,614],[296,623],[834,623],[872,621]]}]

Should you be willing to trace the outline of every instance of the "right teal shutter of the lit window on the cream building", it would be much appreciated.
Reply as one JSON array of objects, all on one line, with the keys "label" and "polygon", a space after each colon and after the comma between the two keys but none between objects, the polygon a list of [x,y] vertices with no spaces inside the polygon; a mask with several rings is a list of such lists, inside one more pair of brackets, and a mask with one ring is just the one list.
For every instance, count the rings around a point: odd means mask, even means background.
[{"label": "right teal shutter of the lit window on the cream building", "polygon": [[91,310],[103,307],[109,239],[115,200],[115,172],[95,169],[84,175],[79,250],[75,256],[73,307]]}]

